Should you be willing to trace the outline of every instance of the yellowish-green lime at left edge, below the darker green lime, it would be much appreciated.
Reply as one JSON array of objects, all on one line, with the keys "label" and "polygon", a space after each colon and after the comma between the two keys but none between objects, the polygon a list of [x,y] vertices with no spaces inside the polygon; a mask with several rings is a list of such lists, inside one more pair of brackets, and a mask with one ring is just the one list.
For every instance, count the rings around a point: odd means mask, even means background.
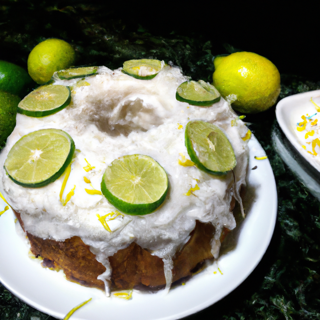
[{"label": "yellowish-green lime at left edge, below the darker green lime", "polygon": [[0,91],[0,147],[4,146],[8,136],[16,125],[16,114],[20,98]]}]

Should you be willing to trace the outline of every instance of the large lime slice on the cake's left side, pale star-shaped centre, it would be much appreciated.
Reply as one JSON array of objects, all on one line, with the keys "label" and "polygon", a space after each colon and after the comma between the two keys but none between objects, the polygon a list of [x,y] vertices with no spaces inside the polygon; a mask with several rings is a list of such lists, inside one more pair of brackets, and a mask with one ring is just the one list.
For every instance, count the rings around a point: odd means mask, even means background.
[{"label": "large lime slice on the cake's left side, pale star-shaped centre", "polygon": [[67,132],[58,129],[34,131],[14,144],[4,169],[20,186],[43,187],[60,177],[74,151],[75,143]]}]

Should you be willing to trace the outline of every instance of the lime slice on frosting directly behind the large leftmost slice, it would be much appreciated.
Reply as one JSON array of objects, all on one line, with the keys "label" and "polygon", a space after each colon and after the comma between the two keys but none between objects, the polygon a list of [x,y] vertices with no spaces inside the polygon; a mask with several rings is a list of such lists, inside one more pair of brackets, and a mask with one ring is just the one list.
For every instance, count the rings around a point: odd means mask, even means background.
[{"label": "lime slice on frosting directly behind the large leftmost slice", "polygon": [[30,117],[49,116],[67,107],[70,101],[69,87],[60,84],[43,85],[21,100],[17,112]]}]

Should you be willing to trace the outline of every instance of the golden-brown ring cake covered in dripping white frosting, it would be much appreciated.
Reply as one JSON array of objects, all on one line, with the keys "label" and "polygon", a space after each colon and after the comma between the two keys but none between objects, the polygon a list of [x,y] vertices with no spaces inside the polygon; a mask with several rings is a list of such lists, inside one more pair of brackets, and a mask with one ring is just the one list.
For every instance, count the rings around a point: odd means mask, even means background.
[{"label": "golden-brown ring cake covered in dripping white frosting", "polygon": [[[18,185],[0,170],[0,191],[43,266],[109,294],[170,288],[217,258],[224,236],[236,227],[232,210],[235,200],[241,204],[248,164],[250,132],[228,102],[204,107],[178,101],[177,88],[188,77],[163,62],[148,80],[103,66],[83,78],[61,80],[56,73],[53,79],[70,88],[71,102],[44,117],[17,114],[0,154],[3,168],[15,143],[42,129],[63,130],[75,143],[69,176],[41,188]],[[185,146],[192,120],[224,132],[236,156],[233,170],[213,175],[193,165]],[[100,192],[106,168],[133,154],[153,158],[169,181],[164,202],[145,215],[119,211]]]}]

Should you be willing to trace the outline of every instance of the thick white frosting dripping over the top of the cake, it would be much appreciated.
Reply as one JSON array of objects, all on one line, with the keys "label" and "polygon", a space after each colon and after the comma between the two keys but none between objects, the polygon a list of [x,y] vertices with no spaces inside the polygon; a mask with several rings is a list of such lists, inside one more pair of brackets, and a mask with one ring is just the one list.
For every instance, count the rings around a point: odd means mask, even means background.
[{"label": "thick white frosting dripping over the top of the cake", "polygon": [[[21,213],[26,231],[41,237],[63,241],[79,236],[90,245],[98,261],[107,268],[100,278],[110,278],[108,257],[135,241],[142,248],[164,259],[167,281],[174,253],[189,239],[196,220],[211,222],[216,228],[212,254],[218,256],[223,227],[233,229],[235,219],[230,201],[241,183],[245,183],[248,147],[241,139],[247,128],[241,120],[231,126],[236,114],[221,98],[211,107],[196,107],[175,98],[177,87],[186,77],[177,67],[165,66],[151,80],[138,80],[118,70],[100,67],[98,74],[84,80],[59,80],[69,85],[71,103],[51,116],[33,118],[17,114],[17,125],[0,154],[0,167],[14,143],[23,135],[39,129],[62,129],[73,138],[76,149],[63,198],[74,187],[75,194],[63,206],[59,193],[64,174],[42,188],[24,188],[0,170],[0,191],[12,207]],[[88,85],[90,84],[90,85]],[[234,175],[213,176],[195,166],[178,164],[180,153],[189,159],[184,144],[184,128],[189,120],[214,123],[227,135],[235,151]],[[180,127],[183,126],[183,128]],[[107,231],[96,214],[104,216],[115,208],[101,195],[90,195],[84,176],[100,190],[106,167],[117,157],[145,154],[154,158],[167,172],[168,196],[155,212],[144,216],[118,216],[109,221]],[[95,169],[86,172],[84,159]],[[191,187],[199,186],[190,196]]]}]

